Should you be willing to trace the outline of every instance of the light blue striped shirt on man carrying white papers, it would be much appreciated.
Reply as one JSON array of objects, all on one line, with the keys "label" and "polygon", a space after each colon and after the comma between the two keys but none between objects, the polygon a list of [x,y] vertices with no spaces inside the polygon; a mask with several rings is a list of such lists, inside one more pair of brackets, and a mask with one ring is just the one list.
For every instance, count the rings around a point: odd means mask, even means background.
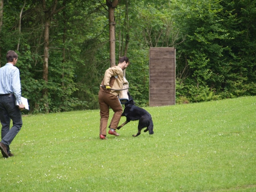
[{"label": "light blue striped shirt on man carrying white papers", "polygon": [[6,63],[0,68],[0,95],[14,94],[21,102],[20,71],[11,63]]}]

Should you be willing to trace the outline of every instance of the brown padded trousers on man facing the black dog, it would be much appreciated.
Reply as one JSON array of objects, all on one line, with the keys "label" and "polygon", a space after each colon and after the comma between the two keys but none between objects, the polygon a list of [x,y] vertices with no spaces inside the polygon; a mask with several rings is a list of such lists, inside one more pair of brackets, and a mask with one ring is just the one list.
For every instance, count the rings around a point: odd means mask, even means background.
[{"label": "brown padded trousers on man facing the black dog", "polygon": [[109,118],[109,107],[114,111],[109,128],[116,129],[123,112],[119,98],[113,94],[99,91],[98,102],[100,104],[100,135],[107,135],[107,123]]}]

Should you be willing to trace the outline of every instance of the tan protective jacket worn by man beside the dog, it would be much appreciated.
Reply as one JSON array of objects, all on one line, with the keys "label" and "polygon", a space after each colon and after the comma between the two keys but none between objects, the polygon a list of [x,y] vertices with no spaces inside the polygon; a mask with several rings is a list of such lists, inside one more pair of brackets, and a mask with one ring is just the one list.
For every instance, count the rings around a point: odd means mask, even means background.
[{"label": "tan protective jacket worn by man beside the dog", "polygon": [[[110,86],[112,89],[123,89],[123,70],[119,66],[112,66],[105,72],[104,79],[101,82],[102,86]],[[120,91],[107,90],[100,86],[100,91],[108,92],[118,96]]]}]

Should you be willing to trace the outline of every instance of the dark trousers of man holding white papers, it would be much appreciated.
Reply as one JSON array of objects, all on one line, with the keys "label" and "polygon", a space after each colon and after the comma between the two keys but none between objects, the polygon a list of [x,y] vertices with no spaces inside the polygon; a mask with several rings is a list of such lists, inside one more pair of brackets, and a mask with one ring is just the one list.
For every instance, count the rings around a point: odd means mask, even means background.
[{"label": "dark trousers of man holding white papers", "polygon": [[[7,146],[7,153],[10,153],[9,146],[22,127],[21,111],[15,102],[15,96],[12,94],[0,95],[1,143]],[[11,120],[13,126],[10,129]]]}]

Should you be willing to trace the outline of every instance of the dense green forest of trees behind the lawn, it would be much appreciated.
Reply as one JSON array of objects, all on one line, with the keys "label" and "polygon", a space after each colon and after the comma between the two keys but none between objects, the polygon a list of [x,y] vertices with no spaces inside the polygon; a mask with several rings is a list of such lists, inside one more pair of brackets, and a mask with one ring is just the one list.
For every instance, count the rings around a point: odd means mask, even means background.
[{"label": "dense green forest of trees behind the lawn", "polygon": [[30,113],[97,109],[123,55],[148,105],[150,47],[176,48],[176,103],[256,95],[256,0],[0,0],[0,66],[18,53]]}]

